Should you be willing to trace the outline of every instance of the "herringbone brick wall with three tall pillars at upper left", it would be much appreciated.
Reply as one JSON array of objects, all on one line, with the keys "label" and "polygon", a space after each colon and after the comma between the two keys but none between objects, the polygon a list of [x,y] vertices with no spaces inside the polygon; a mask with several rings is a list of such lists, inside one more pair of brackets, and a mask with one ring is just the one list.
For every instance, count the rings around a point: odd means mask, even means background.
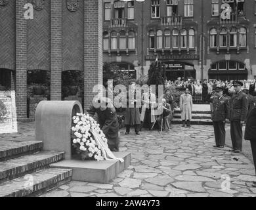
[{"label": "herringbone brick wall with three tall pillars at upper left", "polygon": [[62,98],[62,72],[84,72],[87,108],[102,83],[102,1],[0,1],[0,49],[0,85],[16,89],[19,119],[27,117],[31,70],[51,72],[51,100]]}]

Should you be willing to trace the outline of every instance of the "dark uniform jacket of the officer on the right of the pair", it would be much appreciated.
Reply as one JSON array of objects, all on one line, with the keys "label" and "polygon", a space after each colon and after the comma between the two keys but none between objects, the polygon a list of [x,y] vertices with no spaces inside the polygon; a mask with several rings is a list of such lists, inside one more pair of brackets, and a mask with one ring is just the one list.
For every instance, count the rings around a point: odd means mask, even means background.
[{"label": "dark uniform jacket of the officer on the right of the pair", "polygon": [[245,93],[240,91],[230,99],[230,121],[245,121],[247,117],[249,100]]}]

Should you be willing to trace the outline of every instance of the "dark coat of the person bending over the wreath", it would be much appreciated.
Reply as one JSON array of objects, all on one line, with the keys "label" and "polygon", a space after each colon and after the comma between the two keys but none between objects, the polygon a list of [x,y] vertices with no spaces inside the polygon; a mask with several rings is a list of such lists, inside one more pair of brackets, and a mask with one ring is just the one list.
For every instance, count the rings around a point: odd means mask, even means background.
[{"label": "dark coat of the person bending over the wreath", "polygon": [[97,114],[97,121],[100,124],[100,129],[102,129],[104,135],[108,139],[108,147],[110,150],[117,149],[119,147],[119,123],[117,119],[116,109],[107,108],[101,111],[99,108],[91,106],[88,113],[91,117]]}]

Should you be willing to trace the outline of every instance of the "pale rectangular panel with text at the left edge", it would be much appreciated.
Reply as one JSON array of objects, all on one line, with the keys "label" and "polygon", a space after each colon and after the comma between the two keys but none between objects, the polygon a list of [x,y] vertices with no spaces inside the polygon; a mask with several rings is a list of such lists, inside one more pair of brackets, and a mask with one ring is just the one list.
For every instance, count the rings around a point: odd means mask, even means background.
[{"label": "pale rectangular panel with text at the left edge", "polygon": [[0,133],[17,133],[15,91],[0,91]]}]

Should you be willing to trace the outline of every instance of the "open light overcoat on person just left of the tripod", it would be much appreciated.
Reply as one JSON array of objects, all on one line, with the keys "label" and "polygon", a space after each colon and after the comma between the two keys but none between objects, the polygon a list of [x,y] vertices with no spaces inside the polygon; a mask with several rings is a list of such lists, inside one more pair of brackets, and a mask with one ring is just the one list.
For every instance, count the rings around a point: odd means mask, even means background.
[{"label": "open light overcoat on person just left of the tripod", "polygon": [[[154,123],[156,121],[155,118],[155,112],[154,108],[156,107],[156,95],[154,93],[143,93],[142,95],[142,109],[141,109],[141,114],[140,114],[140,121],[144,121],[145,119],[145,114],[146,114],[146,108],[150,107],[151,110],[151,123]],[[149,105],[149,102],[152,102],[151,105]]]}]

